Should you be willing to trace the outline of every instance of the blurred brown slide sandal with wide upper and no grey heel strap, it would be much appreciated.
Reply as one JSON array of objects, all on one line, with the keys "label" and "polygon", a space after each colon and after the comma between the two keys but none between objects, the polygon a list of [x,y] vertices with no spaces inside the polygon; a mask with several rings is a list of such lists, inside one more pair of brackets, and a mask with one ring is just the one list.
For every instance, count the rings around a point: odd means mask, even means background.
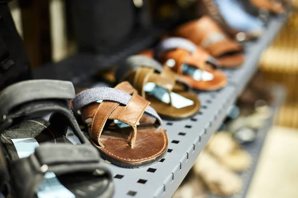
[{"label": "blurred brown slide sandal with wide upper and no grey heel strap", "polygon": [[221,62],[223,67],[237,67],[244,62],[242,47],[229,39],[209,16],[187,22],[172,34],[186,38],[206,49]]}]

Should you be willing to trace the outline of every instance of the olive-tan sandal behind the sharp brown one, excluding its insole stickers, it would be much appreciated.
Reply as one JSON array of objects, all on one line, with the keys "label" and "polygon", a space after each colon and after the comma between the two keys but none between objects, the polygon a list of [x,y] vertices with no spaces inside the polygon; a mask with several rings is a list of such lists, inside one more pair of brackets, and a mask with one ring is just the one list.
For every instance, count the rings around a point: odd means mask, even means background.
[{"label": "olive-tan sandal behind the sharp brown one, excluding its insole stickers", "polygon": [[[159,67],[157,69],[157,65],[154,66],[156,61],[153,60],[154,59],[143,55],[131,56],[122,63],[117,73],[120,76],[119,73],[121,72],[121,76],[123,76],[120,78],[121,81],[130,82],[143,98],[151,102],[150,106],[152,106],[158,114],[169,119],[183,119],[194,115],[200,109],[200,101],[197,95],[190,92],[188,85],[177,77],[176,72],[171,71],[169,68],[162,67],[159,62],[158,64],[161,69],[159,69]],[[149,82],[164,88],[169,94],[174,92],[186,99],[190,99],[194,104],[178,109],[172,105],[171,97],[170,103],[156,99],[144,90],[144,86]]]}]

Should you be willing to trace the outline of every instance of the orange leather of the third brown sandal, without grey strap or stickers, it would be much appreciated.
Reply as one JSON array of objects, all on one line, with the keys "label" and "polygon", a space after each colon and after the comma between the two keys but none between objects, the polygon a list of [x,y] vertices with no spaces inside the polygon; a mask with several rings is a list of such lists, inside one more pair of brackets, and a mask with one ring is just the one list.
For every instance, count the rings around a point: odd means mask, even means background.
[{"label": "orange leather of the third brown sandal, without grey strap or stickers", "polygon": [[[206,91],[221,89],[226,85],[227,78],[223,71],[207,64],[207,57],[208,54],[203,49],[198,48],[194,53],[189,53],[184,49],[175,49],[161,54],[160,60],[165,63],[168,59],[174,59],[175,66],[171,67],[171,69],[177,72],[179,77],[194,89]],[[183,64],[193,65],[201,70],[206,70],[214,76],[214,79],[211,81],[197,81],[182,72],[181,67]],[[165,64],[165,66],[167,65]]]}]

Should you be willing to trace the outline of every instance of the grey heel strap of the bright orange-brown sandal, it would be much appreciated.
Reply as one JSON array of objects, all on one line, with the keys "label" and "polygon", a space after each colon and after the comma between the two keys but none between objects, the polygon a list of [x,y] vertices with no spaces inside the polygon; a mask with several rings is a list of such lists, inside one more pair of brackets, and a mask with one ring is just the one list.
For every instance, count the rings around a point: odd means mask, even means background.
[{"label": "grey heel strap of the bright orange-brown sandal", "polygon": [[171,37],[163,40],[156,46],[155,56],[158,57],[162,52],[178,48],[185,49],[192,53],[197,49],[197,46],[187,39],[183,39],[180,37]]}]

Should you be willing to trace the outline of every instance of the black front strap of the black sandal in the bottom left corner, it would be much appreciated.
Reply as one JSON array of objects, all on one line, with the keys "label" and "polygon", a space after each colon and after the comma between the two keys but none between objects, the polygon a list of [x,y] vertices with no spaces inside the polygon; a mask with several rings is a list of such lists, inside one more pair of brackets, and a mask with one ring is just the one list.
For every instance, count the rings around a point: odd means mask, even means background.
[{"label": "black front strap of the black sandal in the bottom left corner", "polygon": [[29,157],[13,161],[9,170],[16,198],[34,197],[45,172],[56,176],[72,173],[74,177],[76,172],[86,172],[112,180],[111,172],[100,163],[99,153],[91,145],[45,143]]}]

